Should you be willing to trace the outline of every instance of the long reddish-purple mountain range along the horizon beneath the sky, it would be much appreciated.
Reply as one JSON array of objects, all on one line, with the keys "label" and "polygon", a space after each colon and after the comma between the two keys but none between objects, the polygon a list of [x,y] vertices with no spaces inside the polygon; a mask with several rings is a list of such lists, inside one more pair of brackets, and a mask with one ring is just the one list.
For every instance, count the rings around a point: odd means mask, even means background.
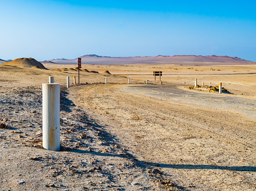
[{"label": "long reddish-purple mountain range along the horizon beneath the sky", "polygon": [[[213,64],[256,64],[256,62],[229,56],[134,56],[134,57],[110,57],[95,54],[81,56],[82,64],[118,65],[118,64],[182,64],[182,65],[213,65]],[[77,58],[73,60],[53,59],[41,63],[77,64]]]}]

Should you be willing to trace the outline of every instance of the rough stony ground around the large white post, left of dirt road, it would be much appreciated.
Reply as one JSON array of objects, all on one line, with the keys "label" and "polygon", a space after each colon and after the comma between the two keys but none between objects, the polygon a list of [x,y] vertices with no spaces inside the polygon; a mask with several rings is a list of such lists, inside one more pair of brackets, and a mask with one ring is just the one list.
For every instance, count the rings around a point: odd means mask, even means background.
[{"label": "rough stony ground around the large white post, left of dirt road", "polygon": [[[90,86],[90,85],[88,85]],[[59,152],[42,148],[41,86],[0,88],[0,190],[189,190],[129,154],[61,87]]]}]

